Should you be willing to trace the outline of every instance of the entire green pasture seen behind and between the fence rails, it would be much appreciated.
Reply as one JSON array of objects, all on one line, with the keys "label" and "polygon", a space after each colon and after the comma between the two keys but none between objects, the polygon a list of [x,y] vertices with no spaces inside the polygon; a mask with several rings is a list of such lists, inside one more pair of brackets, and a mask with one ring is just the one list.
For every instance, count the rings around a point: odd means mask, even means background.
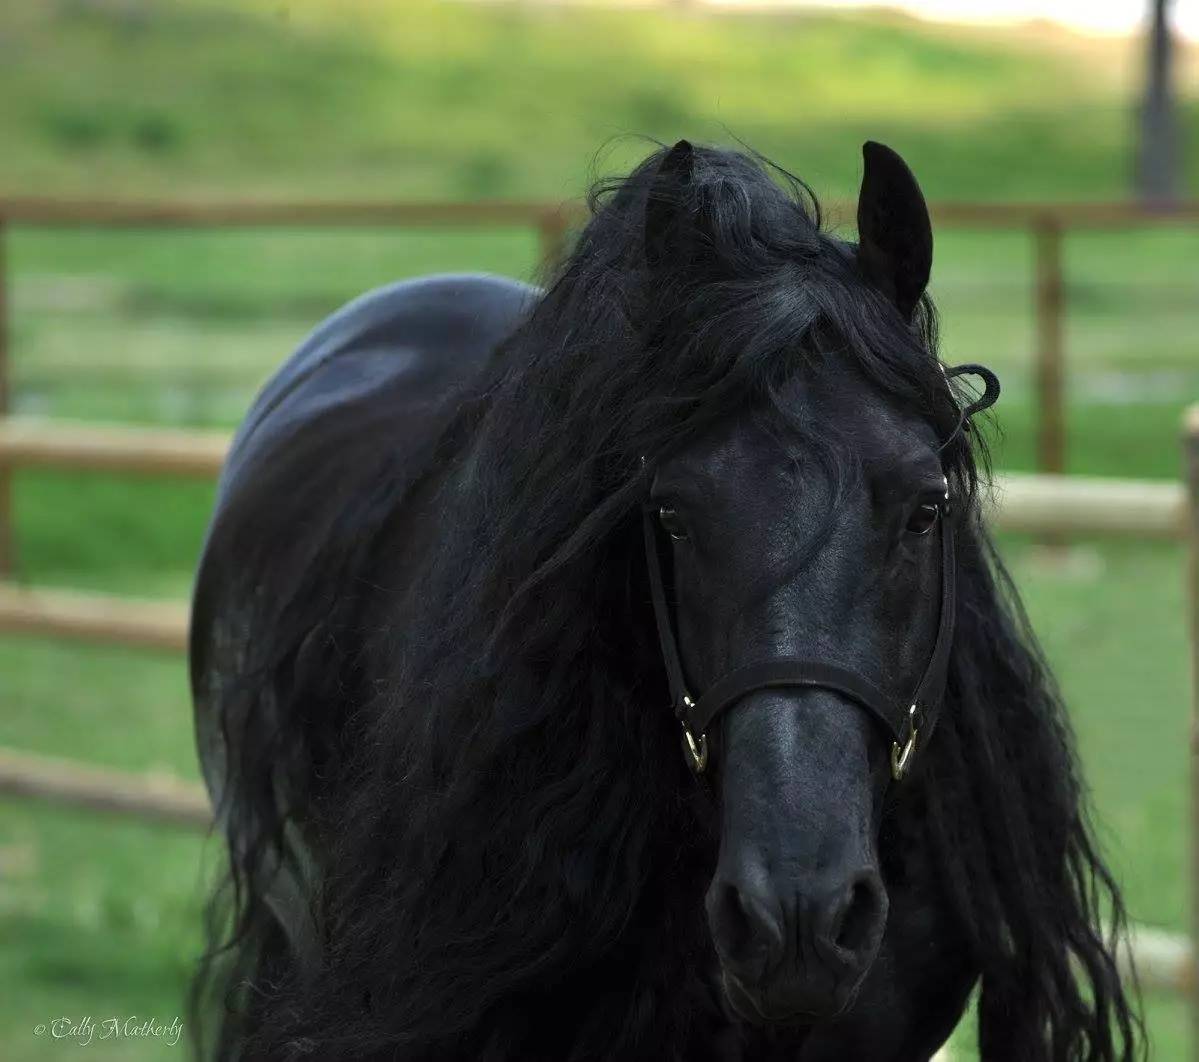
[{"label": "entire green pasture seen behind and between the fence rails", "polygon": [[[835,16],[680,28],[647,12],[634,32],[610,12],[423,4],[405,20],[403,5],[384,17],[355,2],[337,25],[315,2],[282,20],[265,0],[17,7],[0,12],[0,125],[11,131],[0,189],[11,192],[561,198],[582,191],[586,159],[615,134],[727,139],[728,128],[829,194],[852,189],[864,135],[909,150],[933,199],[1125,194],[1128,73],[1099,61],[1103,76],[1091,77],[1099,46],[1079,42]],[[510,78],[512,64],[526,77]],[[58,78],[62,68],[72,78]],[[1047,77],[1060,93],[1043,91]],[[1193,102],[1186,115],[1199,128]],[[319,151],[314,128],[326,135]],[[603,165],[640,152],[617,144]],[[235,424],[344,300],[439,270],[531,277],[537,254],[535,235],[517,230],[14,228],[6,241],[17,411],[212,427]],[[1071,472],[1177,476],[1181,411],[1199,394],[1197,261],[1199,228],[1070,236]],[[1032,461],[1031,268],[1024,234],[938,233],[942,355],[999,372],[990,430],[1002,469]],[[207,484],[22,472],[20,575],[186,596],[210,500]],[[1181,550],[1080,542],[1053,563],[1035,543],[1004,544],[1072,706],[1131,915],[1182,931]],[[2,638],[0,746],[194,779],[182,662]],[[74,1044],[34,1034],[60,1014],[181,1014],[215,856],[179,831],[0,802],[0,1055],[73,1056]],[[1183,1057],[1183,1004],[1150,997],[1146,1014],[1153,1057]],[[88,1057],[171,1050],[182,1048],[95,1042]]]}]

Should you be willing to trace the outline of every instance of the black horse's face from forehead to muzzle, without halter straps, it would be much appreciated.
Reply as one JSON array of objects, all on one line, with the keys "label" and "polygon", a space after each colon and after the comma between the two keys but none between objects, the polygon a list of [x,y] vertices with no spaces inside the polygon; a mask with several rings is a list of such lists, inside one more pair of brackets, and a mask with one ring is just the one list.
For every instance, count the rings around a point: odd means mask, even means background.
[{"label": "black horse's face from forehead to muzzle, without halter straps", "polygon": [[[806,657],[903,696],[936,636],[935,434],[843,368],[795,380],[789,402],[805,436],[838,439],[835,452],[747,415],[655,476],[688,678],[703,690],[745,664]],[[706,906],[729,1001],[751,1021],[831,1018],[886,923],[876,838],[891,738],[851,700],[809,688],[752,693],[713,730],[722,829]]]}]

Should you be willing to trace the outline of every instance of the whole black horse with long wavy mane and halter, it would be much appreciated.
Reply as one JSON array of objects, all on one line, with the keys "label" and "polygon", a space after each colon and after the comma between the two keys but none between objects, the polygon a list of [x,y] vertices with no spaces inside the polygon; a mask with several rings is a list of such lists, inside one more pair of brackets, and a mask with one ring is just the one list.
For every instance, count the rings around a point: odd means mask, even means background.
[{"label": "whole black horse with long wavy mane and halter", "polygon": [[681,141],[543,292],[386,288],[267,385],[193,611],[201,1051],[906,1062],[977,990],[987,1060],[1141,1055],[980,523],[994,378],[864,158],[855,245]]}]

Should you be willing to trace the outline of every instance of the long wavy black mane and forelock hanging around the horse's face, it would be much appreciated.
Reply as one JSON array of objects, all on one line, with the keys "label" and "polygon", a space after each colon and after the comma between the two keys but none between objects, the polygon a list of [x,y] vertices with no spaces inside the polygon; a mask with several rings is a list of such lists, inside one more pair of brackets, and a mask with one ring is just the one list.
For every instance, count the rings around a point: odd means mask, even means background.
[{"label": "long wavy black mane and forelock hanging around the horse's face", "polygon": [[[362,568],[353,629],[349,591],[314,580],[246,662],[271,696],[317,689],[342,708],[282,737],[288,755],[242,747],[225,765],[234,888],[198,992],[224,994],[225,1050],[537,1058],[572,1030],[571,1058],[634,1057],[717,1026],[701,904],[716,822],[662,708],[643,458],[752,405],[787,417],[783,384],[820,358],[942,427],[953,411],[932,302],[903,321],[806,186],[763,159],[697,151],[677,205],[705,254],[651,272],[659,158],[594,192],[573,253],[441,439],[441,477],[345,503],[353,535],[317,567]],[[795,427],[836,464],[832,440]],[[934,846],[982,974],[984,1057],[1132,1058],[1137,1019],[1098,928],[1120,931],[1123,910],[1059,694],[980,523],[984,454],[964,436],[945,460],[960,543],[948,701],[887,813],[884,863],[900,867],[905,839]],[[412,496],[444,533],[399,585]],[[311,626],[287,621],[301,614],[327,617],[333,674],[302,670]],[[263,900],[290,864],[308,868],[312,954]],[[546,1001],[537,1027],[530,1000]]]}]

